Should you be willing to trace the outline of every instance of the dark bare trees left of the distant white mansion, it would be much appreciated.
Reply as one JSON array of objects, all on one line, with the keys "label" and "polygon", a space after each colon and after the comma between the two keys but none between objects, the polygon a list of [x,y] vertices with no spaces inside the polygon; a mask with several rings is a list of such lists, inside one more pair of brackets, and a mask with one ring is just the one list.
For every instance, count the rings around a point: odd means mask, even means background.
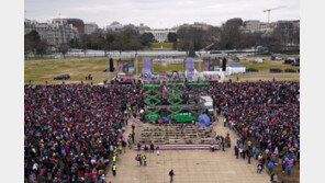
[{"label": "dark bare trees left of the distant white mansion", "polygon": [[[154,42],[152,33],[139,34],[134,28],[124,28],[121,32],[103,32],[97,30],[90,35],[82,34],[79,38],[75,37],[67,44],[56,46],[57,52],[64,56],[69,48],[79,48],[86,52],[87,49],[101,49],[105,53],[109,50],[139,50],[149,46]],[[41,41],[41,36],[36,31],[31,31],[24,37],[25,54],[33,53],[36,55],[46,54],[49,45]]]}]

